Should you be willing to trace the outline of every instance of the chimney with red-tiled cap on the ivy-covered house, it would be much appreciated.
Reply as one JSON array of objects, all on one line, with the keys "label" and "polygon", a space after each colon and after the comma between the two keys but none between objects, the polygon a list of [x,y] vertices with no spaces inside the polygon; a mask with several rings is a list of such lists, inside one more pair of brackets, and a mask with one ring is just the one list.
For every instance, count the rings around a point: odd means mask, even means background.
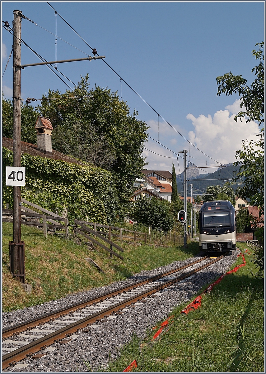
[{"label": "chimney with red-tiled cap on the ivy-covered house", "polygon": [[50,119],[39,116],[35,124],[35,129],[37,131],[37,149],[51,154],[53,126]]}]

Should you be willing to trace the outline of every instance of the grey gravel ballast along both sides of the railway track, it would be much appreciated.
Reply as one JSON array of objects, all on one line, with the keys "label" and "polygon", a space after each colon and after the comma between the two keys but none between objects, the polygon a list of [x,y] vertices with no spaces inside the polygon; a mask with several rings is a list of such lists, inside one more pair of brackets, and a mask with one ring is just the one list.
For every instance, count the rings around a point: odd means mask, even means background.
[{"label": "grey gravel ballast along both sides of the railway track", "polygon": [[[133,334],[143,336],[147,328],[151,328],[161,319],[167,318],[171,310],[177,305],[188,302],[204,285],[211,283],[220,275],[226,273],[236,261],[238,250],[224,257],[218,263],[214,263],[207,269],[203,269],[187,280],[176,283],[175,286],[164,289],[157,295],[146,300],[145,303],[137,303],[136,307],[126,308],[121,315],[110,316],[103,322],[90,327],[90,332],[76,332],[72,340],[64,345],[58,343],[50,346],[40,359],[24,359],[20,364],[28,364],[27,367],[8,367],[4,371],[21,372],[55,372],[55,371],[97,371],[98,368],[106,368],[109,360],[114,360],[119,349],[132,338]],[[199,256],[200,257],[200,256]],[[41,305],[27,307],[3,313],[2,327],[9,327],[41,314],[51,312],[55,309],[77,303],[113,289],[129,285],[154,276],[167,270],[174,269],[183,264],[197,260],[198,257],[189,258],[185,261],[174,261],[173,263],[157,269],[142,271],[124,281],[114,282],[111,285],[93,288],[89,291],[78,292],[68,295],[56,301],[50,301]],[[51,351],[50,349],[54,350]],[[87,365],[85,362],[87,362]]]}]

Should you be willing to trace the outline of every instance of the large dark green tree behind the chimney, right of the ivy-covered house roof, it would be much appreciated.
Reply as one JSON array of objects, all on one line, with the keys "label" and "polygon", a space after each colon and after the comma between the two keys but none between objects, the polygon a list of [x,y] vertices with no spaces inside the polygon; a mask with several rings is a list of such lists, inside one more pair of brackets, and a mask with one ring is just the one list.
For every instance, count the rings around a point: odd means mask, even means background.
[{"label": "large dark green tree behind the chimney, right of the ivy-covered house roof", "polygon": [[[89,97],[73,98],[77,96]],[[85,161],[103,161],[102,166],[112,172],[118,191],[119,214],[126,214],[133,183],[141,177],[146,165],[142,156],[148,129],[145,122],[137,119],[136,110],[130,114],[128,105],[120,100],[117,92],[100,87],[89,89],[88,74],[81,77],[74,90],[63,94],[49,90],[43,97],[72,97],[45,100],[38,107],[52,122],[53,149],[75,157],[78,153]]]}]

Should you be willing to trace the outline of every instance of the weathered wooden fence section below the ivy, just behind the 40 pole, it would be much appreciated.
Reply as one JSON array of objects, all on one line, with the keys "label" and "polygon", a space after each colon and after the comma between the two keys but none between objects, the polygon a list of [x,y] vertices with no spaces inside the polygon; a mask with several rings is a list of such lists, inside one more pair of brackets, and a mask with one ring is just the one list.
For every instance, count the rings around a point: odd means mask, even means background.
[{"label": "weathered wooden fence section below the ivy, just behind the 40 pole", "polygon": [[[68,232],[68,219],[67,218],[61,217],[60,215],[50,212],[47,209],[44,209],[41,206],[31,203],[30,201],[27,201],[25,199],[21,199],[21,201],[24,204],[30,205],[33,208],[36,208],[40,210],[41,212],[46,213],[46,214],[40,214],[22,205],[21,206],[21,218],[22,218],[21,224],[22,225],[43,227],[43,234],[45,237],[47,236],[47,229],[65,230],[65,238],[68,239],[69,232]],[[3,212],[3,216],[13,215],[12,209],[3,209],[2,212]],[[40,218],[42,218],[43,223],[28,221],[28,219],[34,219],[34,218],[37,218],[39,220]],[[13,218],[3,217],[2,221],[13,223]],[[56,222],[56,221],[60,221],[60,222]],[[47,223],[47,222],[50,222],[50,223]],[[61,222],[64,222],[64,225],[61,224]]]}]

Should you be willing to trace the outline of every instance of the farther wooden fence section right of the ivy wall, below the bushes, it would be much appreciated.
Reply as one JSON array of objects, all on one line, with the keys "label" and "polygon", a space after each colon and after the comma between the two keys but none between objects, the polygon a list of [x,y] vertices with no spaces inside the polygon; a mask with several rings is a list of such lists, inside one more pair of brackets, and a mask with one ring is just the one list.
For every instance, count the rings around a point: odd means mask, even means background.
[{"label": "farther wooden fence section right of the ivy wall, below the bushes", "polygon": [[[114,226],[108,226],[108,225],[101,225],[99,223],[95,222],[86,222],[86,221],[79,221],[80,223],[87,225],[87,226],[93,226],[93,233],[98,233],[100,235],[108,236],[108,239],[111,239],[111,236],[117,237],[120,239],[120,243],[123,244],[123,239],[132,239],[134,246],[136,246],[136,243],[144,241],[144,244],[147,243],[147,234],[141,233],[138,231],[128,230],[124,229],[123,227],[114,227]],[[97,227],[103,227],[105,229],[108,229],[108,232],[106,231],[99,231],[97,230]],[[114,233],[112,231],[119,231],[118,233]],[[134,236],[124,235],[123,231],[133,233]],[[143,237],[139,237],[139,235],[142,235]]]}]

